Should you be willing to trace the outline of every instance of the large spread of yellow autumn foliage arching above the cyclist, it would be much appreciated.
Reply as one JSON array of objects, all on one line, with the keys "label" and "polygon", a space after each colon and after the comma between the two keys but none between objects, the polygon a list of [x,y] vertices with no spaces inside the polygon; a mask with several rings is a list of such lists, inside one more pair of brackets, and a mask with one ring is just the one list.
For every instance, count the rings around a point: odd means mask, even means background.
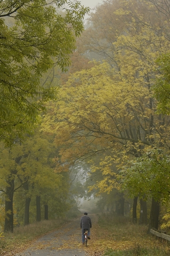
[{"label": "large spread of yellow autumn foliage arching above the cyclist", "polygon": [[[102,154],[99,165],[91,163],[93,172],[96,168],[102,172],[102,181],[94,186],[101,192],[120,189],[117,170],[133,157],[132,152],[137,155],[144,147],[163,142],[169,132],[168,126],[160,126],[161,120],[150,103],[150,84],[143,77],[147,70],[143,68],[136,76],[139,67],[134,68],[137,65],[133,58],[136,54],[124,56],[120,72],[103,62],[71,75],[59,89],[53,111],[44,117],[44,129],[57,134],[55,143],[62,163]],[[156,129],[151,131],[153,115]]]}]

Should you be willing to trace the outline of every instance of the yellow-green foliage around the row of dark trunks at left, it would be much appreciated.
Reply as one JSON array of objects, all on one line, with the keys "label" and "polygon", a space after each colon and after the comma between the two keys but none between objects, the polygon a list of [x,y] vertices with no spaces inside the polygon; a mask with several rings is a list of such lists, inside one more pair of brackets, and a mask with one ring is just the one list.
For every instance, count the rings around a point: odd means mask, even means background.
[{"label": "yellow-green foliage around the row of dark trunks at left", "polygon": [[[70,208],[67,201],[69,195],[68,173],[55,170],[54,156],[57,154],[53,139],[37,130],[33,137],[21,145],[11,149],[0,145],[0,189],[1,218],[4,222],[4,201],[7,180],[12,174],[14,179],[14,226],[25,223],[25,201],[30,198],[30,223],[36,220],[36,196],[41,196],[41,210],[44,213],[44,204],[48,205],[48,218],[63,216]],[[7,199],[7,195],[6,198]],[[44,215],[44,214],[43,214]]]}]

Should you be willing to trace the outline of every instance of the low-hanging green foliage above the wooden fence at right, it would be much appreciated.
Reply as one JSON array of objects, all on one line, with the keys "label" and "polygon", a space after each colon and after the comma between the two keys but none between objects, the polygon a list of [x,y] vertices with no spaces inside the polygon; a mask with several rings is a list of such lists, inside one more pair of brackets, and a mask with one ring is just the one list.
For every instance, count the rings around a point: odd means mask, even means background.
[{"label": "low-hanging green foliage above the wooden fence at right", "polygon": [[123,189],[128,189],[131,196],[151,194],[156,200],[169,201],[169,156],[163,151],[148,149],[142,157],[127,161],[120,171]]}]

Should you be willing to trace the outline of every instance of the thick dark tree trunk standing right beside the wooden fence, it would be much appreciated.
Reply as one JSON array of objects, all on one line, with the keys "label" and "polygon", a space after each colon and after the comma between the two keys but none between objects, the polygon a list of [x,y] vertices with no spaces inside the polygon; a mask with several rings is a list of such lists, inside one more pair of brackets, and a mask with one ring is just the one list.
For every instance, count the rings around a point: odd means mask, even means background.
[{"label": "thick dark tree trunk standing right beside the wooden fence", "polygon": [[160,202],[155,201],[155,199],[152,197],[148,233],[150,233],[151,228],[158,229],[159,210],[160,210]]}]

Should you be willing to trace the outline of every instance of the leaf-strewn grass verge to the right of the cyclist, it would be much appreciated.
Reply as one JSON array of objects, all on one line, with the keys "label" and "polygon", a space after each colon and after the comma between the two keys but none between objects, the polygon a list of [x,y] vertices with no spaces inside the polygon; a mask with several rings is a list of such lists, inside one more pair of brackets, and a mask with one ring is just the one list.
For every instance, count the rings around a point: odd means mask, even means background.
[{"label": "leaf-strewn grass verge to the right of the cyclist", "polygon": [[167,241],[147,231],[147,226],[134,225],[128,218],[103,214],[93,223],[86,251],[91,256],[169,256]]}]

